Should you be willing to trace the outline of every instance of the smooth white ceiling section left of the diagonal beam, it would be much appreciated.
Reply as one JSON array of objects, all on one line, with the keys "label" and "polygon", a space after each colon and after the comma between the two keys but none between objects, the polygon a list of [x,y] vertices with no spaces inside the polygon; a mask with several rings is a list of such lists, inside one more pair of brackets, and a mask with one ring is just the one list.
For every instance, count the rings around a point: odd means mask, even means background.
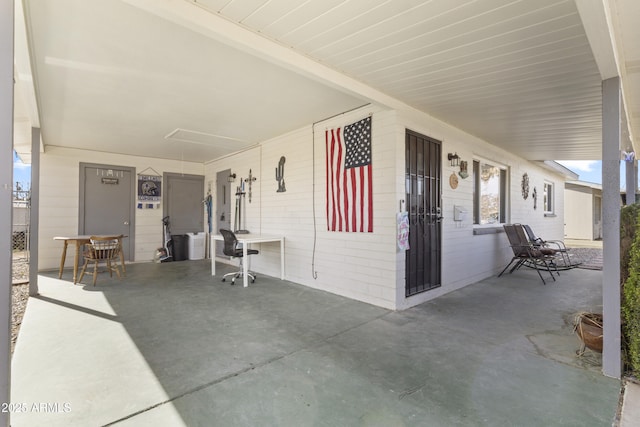
[{"label": "smooth white ceiling section left of the diagonal beam", "polygon": [[[366,103],[121,2],[27,13],[48,145],[210,160]],[[176,128],[222,139],[167,142]]]}]

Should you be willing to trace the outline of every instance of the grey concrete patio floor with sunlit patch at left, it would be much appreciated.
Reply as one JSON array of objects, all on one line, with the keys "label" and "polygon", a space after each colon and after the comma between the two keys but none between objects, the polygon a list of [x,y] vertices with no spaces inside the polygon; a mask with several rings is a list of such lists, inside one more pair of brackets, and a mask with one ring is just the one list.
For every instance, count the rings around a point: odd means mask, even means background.
[{"label": "grey concrete patio floor with sunlit patch at left", "polygon": [[[95,287],[40,275],[12,360],[18,426],[611,426],[620,381],[576,356],[600,271],[490,278],[394,312],[207,261]],[[218,264],[218,272],[230,267]],[[90,283],[91,278],[84,282]],[[594,365],[596,363],[596,365]]]}]

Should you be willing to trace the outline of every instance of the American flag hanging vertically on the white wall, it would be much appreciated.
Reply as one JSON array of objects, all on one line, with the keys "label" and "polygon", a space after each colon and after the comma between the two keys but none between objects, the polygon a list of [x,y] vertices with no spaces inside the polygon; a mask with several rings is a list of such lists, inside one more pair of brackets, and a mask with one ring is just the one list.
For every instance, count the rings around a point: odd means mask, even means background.
[{"label": "American flag hanging vertically on the white wall", "polygon": [[373,232],[371,116],[325,132],[327,230]]}]

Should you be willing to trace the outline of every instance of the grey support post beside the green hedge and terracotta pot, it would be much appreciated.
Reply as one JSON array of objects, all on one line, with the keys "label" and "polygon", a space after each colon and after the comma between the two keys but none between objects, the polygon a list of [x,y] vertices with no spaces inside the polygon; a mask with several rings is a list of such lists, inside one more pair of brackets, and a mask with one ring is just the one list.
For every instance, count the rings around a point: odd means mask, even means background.
[{"label": "grey support post beside the green hedge and terracotta pot", "polygon": [[[620,78],[602,82],[602,372],[620,378]],[[635,187],[631,189],[633,192]],[[629,194],[627,192],[627,194]]]}]

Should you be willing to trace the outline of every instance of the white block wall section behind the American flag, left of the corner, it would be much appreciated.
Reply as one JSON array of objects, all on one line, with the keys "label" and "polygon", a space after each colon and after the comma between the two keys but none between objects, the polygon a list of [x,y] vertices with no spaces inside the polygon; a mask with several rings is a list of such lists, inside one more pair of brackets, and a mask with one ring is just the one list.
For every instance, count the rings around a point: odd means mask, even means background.
[{"label": "white block wall section behind the American flag, left of the corner", "polygon": [[[360,120],[370,113],[373,156],[373,233],[327,231],[325,220],[325,130]],[[260,147],[208,163],[206,181],[225,169],[258,177],[252,203],[246,203],[249,231],[286,236],[286,278],[383,307],[395,306],[395,114],[365,108],[315,126],[307,126]],[[286,157],[287,191],[277,193],[275,168]],[[314,167],[315,166],[315,167]],[[315,208],[315,211],[314,211]],[[314,221],[315,219],[315,221]],[[279,275],[279,252],[261,244],[252,269]]]}]

